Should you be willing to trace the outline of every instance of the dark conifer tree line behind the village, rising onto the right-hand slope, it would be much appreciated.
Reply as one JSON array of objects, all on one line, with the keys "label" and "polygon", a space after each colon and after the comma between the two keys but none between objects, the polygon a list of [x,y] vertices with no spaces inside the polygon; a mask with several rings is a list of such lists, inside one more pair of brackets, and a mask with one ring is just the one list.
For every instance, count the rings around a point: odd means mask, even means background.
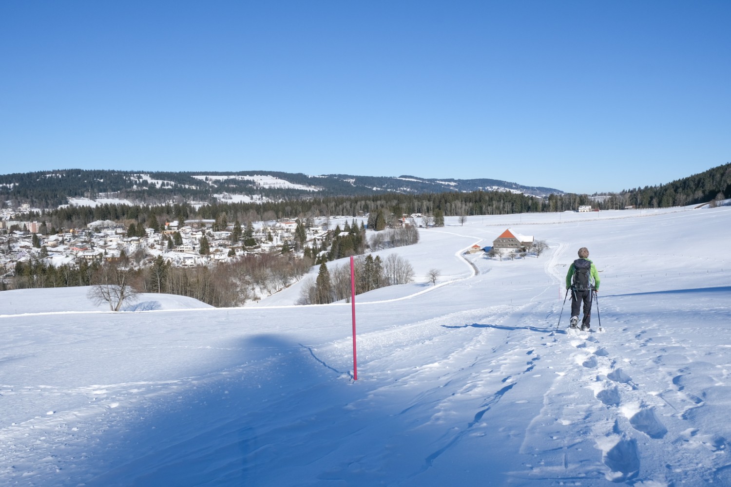
[{"label": "dark conifer tree line behind the village, rising onto the right-hand slope", "polygon": [[[301,196],[301,195],[300,195]],[[224,217],[227,221],[273,221],[282,218],[318,218],[330,215],[368,213],[377,217],[411,215],[421,213],[443,216],[505,215],[520,212],[561,212],[577,210],[580,205],[592,205],[602,210],[616,210],[626,206],[639,208],[671,207],[700,204],[714,199],[731,198],[731,164],[725,164],[698,175],[686,177],[664,185],[646,186],[609,193],[601,199],[586,194],[551,194],[545,198],[505,191],[473,191],[471,193],[422,193],[422,194],[373,194],[368,196],[306,196],[299,199],[280,199],[260,203],[211,202],[197,208],[185,201],[159,205],[99,204],[96,207],[61,207],[44,210],[40,218],[48,228],[83,228],[97,220],[111,220],[155,228],[167,221],[186,219],[213,219]],[[368,222],[369,229],[379,229],[379,224]]]}]

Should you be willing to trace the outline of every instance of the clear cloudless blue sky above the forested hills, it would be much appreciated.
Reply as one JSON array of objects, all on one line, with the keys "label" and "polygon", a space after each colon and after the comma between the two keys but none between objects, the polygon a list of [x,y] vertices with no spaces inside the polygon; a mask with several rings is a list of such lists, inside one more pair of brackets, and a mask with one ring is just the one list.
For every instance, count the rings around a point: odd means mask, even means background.
[{"label": "clear cloudless blue sky above the forested hills", "polygon": [[731,161],[731,2],[0,2],[0,171],[491,177]]}]

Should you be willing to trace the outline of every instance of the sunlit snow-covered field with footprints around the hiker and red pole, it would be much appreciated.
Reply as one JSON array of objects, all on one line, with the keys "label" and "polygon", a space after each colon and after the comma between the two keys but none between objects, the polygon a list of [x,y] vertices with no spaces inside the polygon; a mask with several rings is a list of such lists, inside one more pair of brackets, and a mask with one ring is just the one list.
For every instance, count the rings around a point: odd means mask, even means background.
[{"label": "sunlit snow-covered field with footprints around the hiker and red pole", "polygon": [[[462,255],[509,226],[550,249]],[[119,313],[84,288],[0,293],[0,483],[731,485],[731,207],[447,218],[421,237],[382,252],[417,283],[356,298],[357,380],[350,305],[292,306],[297,285]],[[596,304],[591,333],[561,314],[582,246],[603,331]]]}]

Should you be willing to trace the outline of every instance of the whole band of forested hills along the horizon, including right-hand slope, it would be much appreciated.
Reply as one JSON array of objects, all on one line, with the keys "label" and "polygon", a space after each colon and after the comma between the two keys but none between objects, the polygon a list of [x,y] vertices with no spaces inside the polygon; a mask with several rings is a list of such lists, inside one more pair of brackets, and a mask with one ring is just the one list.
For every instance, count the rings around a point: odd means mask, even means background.
[{"label": "whole band of forested hills along the horizon, including right-hand slope", "polygon": [[[576,210],[580,204],[593,204],[594,207],[607,210],[629,205],[671,207],[731,198],[731,163],[671,183],[591,197],[500,180],[436,180],[409,175],[308,176],[273,171],[133,172],[83,169],[0,175],[0,207],[7,204],[20,207],[22,203],[29,203],[31,207],[52,210],[67,204],[69,198],[82,197],[123,199],[142,206],[200,202],[216,207],[237,201],[229,195],[257,195],[249,200],[238,200],[247,210],[249,205],[245,204],[246,201],[256,201],[254,207],[257,212],[266,210],[262,207],[265,202],[268,202],[264,204],[265,207],[287,207],[287,202],[295,201],[301,204],[308,201],[309,206],[326,204],[340,210],[346,207],[365,210],[366,207],[374,207],[374,204],[364,201],[376,202],[387,195],[386,199],[393,202],[392,206],[400,205],[417,212],[425,211],[424,207],[441,209],[446,215],[461,212],[477,214],[480,211],[492,214]],[[356,198],[352,199],[353,196]],[[110,204],[113,202],[110,201]],[[379,204],[375,207],[379,207]],[[279,212],[275,208],[272,210]]]}]

